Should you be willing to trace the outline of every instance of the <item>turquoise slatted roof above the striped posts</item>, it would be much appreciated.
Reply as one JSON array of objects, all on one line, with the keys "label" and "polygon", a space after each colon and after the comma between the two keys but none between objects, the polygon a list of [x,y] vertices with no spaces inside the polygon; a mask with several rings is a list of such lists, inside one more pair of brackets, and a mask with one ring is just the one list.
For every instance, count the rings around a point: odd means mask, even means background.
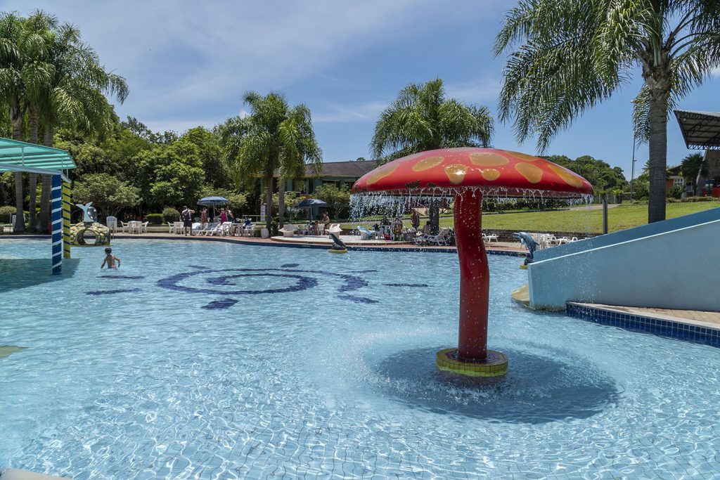
[{"label": "turquoise slatted roof above the striped posts", "polygon": [[77,168],[67,150],[45,147],[0,137],[0,171],[21,171],[61,175],[63,170]]}]

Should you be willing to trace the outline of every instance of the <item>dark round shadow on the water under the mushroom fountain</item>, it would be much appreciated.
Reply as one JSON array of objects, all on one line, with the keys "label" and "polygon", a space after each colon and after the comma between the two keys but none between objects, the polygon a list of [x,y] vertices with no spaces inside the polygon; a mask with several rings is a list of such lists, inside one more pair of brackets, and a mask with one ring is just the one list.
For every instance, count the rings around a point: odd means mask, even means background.
[{"label": "dark round shadow on the water under the mushroom fountain", "polygon": [[438,371],[438,350],[405,350],[385,358],[372,368],[372,388],[413,408],[511,423],[588,418],[621,400],[611,378],[562,352],[500,348],[510,358],[508,375],[472,379]]}]

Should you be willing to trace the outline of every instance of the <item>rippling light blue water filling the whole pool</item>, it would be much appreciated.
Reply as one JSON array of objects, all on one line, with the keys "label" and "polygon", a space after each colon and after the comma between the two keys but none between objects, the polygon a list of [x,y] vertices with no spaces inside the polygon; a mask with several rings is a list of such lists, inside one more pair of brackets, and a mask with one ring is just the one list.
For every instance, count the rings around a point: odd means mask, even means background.
[{"label": "rippling light blue water filling the whole pool", "polygon": [[[456,345],[455,255],[0,242],[0,466],[76,479],[720,475],[720,350],[528,312],[490,256],[496,384]],[[39,268],[38,270],[33,270]]]}]

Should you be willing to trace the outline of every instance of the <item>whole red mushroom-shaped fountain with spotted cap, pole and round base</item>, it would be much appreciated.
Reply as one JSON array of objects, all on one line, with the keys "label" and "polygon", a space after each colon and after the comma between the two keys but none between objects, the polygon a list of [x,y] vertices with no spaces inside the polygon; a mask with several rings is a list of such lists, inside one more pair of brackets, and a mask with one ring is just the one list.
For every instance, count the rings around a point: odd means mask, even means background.
[{"label": "whole red mushroom-shaped fountain with spotted cap, pole and round base", "polygon": [[[366,173],[352,188],[364,209],[374,197],[454,197],[454,227],[460,262],[458,348],[440,350],[438,368],[467,376],[503,376],[508,358],[487,350],[490,272],[482,243],[482,199],[581,198],[592,194],[585,178],[555,163],[495,148],[447,148],[398,158]],[[387,202],[379,201],[380,204]]]}]

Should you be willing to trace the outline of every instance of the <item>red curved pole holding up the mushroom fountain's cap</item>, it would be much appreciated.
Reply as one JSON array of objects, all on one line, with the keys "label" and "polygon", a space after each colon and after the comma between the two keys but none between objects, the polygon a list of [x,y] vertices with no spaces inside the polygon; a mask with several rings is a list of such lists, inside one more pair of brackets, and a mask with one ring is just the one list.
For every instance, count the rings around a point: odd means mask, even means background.
[{"label": "red curved pole holding up the mushroom fountain's cap", "polygon": [[466,189],[455,196],[455,243],[460,262],[458,357],[487,359],[487,303],[490,271],[482,243],[482,194]]}]

